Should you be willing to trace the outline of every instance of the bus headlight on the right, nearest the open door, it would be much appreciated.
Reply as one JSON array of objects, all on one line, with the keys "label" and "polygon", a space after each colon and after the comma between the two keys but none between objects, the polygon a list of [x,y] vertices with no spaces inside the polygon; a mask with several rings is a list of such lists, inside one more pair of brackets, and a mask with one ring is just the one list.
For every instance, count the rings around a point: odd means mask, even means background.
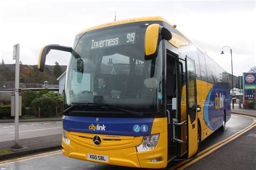
[{"label": "bus headlight on the right, nearest the open door", "polygon": [[137,147],[137,152],[149,151],[157,146],[159,133],[150,136],[144,136],[142,143]]}]

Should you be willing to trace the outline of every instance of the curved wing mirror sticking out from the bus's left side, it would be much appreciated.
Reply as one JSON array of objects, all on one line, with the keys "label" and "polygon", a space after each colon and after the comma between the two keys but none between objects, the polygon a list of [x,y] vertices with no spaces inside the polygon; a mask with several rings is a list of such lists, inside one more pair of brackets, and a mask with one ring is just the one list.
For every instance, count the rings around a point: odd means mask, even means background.
[{"label": "curved wing mirror sticking out from the bus's left side", "polygon": [[44,71],[46,55],[49,54],[51,49],[56,49],[56,50],[59,50],[59,51],[65,51],[65,52],[70,52],[70,53],[73,51],[72,47],[61,46],[61,45],[58,45],[58,44],[51,44],[51,45],[44,46],[41,49],[41,52],[39,54],[38,63],[37,63],[37,68],[41,72]]}]

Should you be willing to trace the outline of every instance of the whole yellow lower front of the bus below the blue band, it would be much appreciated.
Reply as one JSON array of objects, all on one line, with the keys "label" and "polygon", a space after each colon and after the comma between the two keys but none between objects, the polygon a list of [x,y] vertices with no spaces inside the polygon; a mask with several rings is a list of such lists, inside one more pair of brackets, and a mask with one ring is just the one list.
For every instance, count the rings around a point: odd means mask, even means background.
[{"label": "whole yellow lower front of the bus below the blue band", "polygon": [[[80,160],[100,162],[103,164],[143,167],[164,168],[167,166],[167,118],[155,118],[151,134],[159,133],[159,141],[156,148],[150,151],[137,152],[136,146],[142,143],[143,137],[111,136],[97,134],[102,138],[102,144],[96,146],[92,138],[93,133],[66,132],[70,144],[62,140],[63,154]],[[105,155],[109,162],[87,159],[87,154]],[[159,162],[151,162],[153,158],[161,157]]]}]

